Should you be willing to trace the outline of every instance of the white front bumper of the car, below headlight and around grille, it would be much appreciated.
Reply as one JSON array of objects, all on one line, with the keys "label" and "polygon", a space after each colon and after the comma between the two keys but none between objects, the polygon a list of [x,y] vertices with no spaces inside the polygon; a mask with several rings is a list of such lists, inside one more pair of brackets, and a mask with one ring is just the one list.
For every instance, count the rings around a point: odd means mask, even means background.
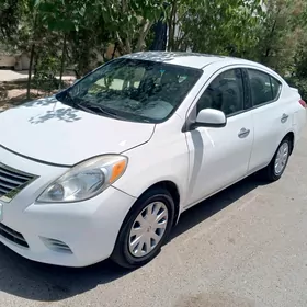
[{"label": "white front bumper of the car, below headlight and around grille", "polygon": [[2,243],[27,259],[64,266],[87,266],[111,255],[122,223],[135,202],[133,196],[111,186],[84,202],[37,204],[34,200],[52,178],[66,170],[24,161],[2,149],[0,159],[7,166],[41,175],[10,203],[1,203]]}]

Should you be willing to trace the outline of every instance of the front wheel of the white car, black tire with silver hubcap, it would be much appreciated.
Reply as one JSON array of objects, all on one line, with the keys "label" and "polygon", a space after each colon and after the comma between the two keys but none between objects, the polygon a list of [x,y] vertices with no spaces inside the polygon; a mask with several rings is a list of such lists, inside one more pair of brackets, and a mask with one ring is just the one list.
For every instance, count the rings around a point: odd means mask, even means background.
[{"label": "front wheel of the white car, black tire with silver hubcap", "polygon": [[[152,207],[151,207],[152,205]],[[160,209],[159,209],[159,206]],[[156,219],[155,214],[150,215],[150,211],[156,214],[157,216],[163,216],[166,215],[164,213],[167,212],[167,223],[163,224],[163,218],[162,219]],[[164,212],[162,212],[164,211]],[[145,221],[141,219],[140,214],[145,215]],[[150,226],[147,220],[158,220],[161,221],[159,224],[159,229],[155,230],[155,226],[157,223]],[[138,223],[138,220],[141,220],[144,225]],[[171,194],[160,187],[155,187],[151,189],[145,194],[143,194],[128,215],[126,216],[122,228],[118,232],[117,240],[113,250],[113,253],[111,255],[111,260],[113,260],[115,263],[118,265],[126,268],[126,269],[135,269],[145,265],[146,263],[150,262],[154,258],[156,258],[160,250],[162,245],[167,241],[167,239],[170,236],[170,231],[172,229],[174,220],[174,202],[172,200]],[[160,225],[166,225],[164,230],[160,228]],[[139,231],[145,232],[137,232],[137,234],[143,234],[141,236],[137,235],[134,236],[135,229]],[[145,230],[146,229],[146,230]],[[159,236],[157,235],[157,231]],[[154,235],[151,235],[154,234]],[[155,236],[155,234],[157,236]],[[151,247],[151,245],[155,245],[156,240],[149,239],[148,241],[148,236],[155,236],[155,238],[160,238],[159,241],[157,240],[157,243],[155,247]],[[140,238],[137,240],[137,238]],[[143,239],[145,238],[145,239]],[[146,242],[143,242],[141,240],[146,240]],[[138,241],[139,243],[133,243],[135,241]],[[149,246],[150,245],[150,246]],[[149,248],[148,248],[149,246]],[[149,251],[150,250],[150,251]]]}]

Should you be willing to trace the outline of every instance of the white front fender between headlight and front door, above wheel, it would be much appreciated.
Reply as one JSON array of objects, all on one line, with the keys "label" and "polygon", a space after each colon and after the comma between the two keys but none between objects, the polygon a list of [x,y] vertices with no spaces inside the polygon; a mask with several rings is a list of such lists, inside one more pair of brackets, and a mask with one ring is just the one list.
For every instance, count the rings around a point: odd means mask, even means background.
[{"label": "white front fender between headlight and front door, above wheel", "polygon": [[[128,157],[126,172],[113,186],[139,197],[147,189],[161,181],[173,182],[184,202],[189,181],[189,152],[183,134],[178,134],[172,141],[163,138],[133,148],[125,152]],[[167,140],[168,139],[168,140]]]}]

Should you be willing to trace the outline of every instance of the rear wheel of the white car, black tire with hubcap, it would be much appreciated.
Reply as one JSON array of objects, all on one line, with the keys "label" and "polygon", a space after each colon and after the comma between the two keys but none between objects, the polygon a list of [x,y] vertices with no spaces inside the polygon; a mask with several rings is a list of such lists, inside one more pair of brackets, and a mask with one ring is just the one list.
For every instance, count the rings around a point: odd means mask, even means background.
[{"label": "rear wheel of the white car, black tire with hubcap", "polygon": [[[288,162],[288,158],[289,158],[289,155],[291,155],[291,149],[292,149],[292,141],[288,137],[284,138],[282,140],[282,143],[280,144],[272,161],[270,162],[270,164],[263,169],[263,177],[265,180],[268,181],[271,181],[271,182],[274,182],[274,181],[277,181],[281,179],[281,177],[283,175],[285,169],[286,169],[286,166],[287,166],[287,162]],[[281,159],[281,156],[278,155],[280,152],[283,152],[285,155],[285,151],[287,152],[284,160],[283,160],[283,163],[280,168],[276,168],[276,163],[277,163],[277,159],[280,158]]]}]

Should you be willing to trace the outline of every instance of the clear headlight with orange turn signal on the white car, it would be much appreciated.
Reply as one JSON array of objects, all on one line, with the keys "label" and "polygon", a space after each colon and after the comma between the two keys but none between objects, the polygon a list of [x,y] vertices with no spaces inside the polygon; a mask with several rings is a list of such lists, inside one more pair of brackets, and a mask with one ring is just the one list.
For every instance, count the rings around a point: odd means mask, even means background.
[{"label": "clear headlight with orange turn signal on the white car", "polygon": [[127,158],[105,155],[83,161],[52,183],[37,198],[41,203],[70,203],[91,198],[126,170]]}]

